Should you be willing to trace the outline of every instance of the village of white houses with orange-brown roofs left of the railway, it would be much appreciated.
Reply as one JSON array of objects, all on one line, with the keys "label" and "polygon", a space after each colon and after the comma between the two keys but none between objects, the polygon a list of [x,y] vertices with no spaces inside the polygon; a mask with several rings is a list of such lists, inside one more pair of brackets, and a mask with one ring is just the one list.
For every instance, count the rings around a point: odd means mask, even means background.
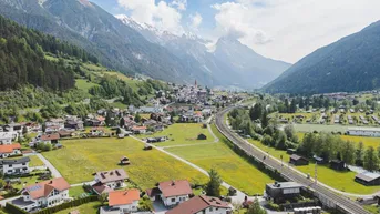
[{"label": "village of white houses with orange-brown roofs left of the railway", "polygon": [[[92,181],[74,184],[74,179],[57,170],[60,167],[49,157],[52,152],[63,153],[71,144],[84,144],[85,141],[112,141],[116,144],[131,137],[134,140],[127,140],[129,143],[140,141],[142,151],[148,152],[156,150],[157,143],[176,144],[173,139],[176,137],[175,133],[165,131],[178,125],[189,129],[192,134],[182,141],[208,142],[212,135],[207,128],[213,113],[243,99],[235,93],[214,94],[196,83],[174,86],[172,94],[165,93],[168,92],[157,91],[157,98],[146,106],[100,109],[86,118],[64,115],[43,123],[23,122],[0,126],[1,205],[14,213],[55,213],[80,204],[100,203],[99,200],[103,198],[102,206],[99,206],[101,214],[184,214],[195,213],[193,207],[198,208],[196,212],[232,213],[235,208],[230,201],[206,196],[204,191],[199,193],[188,179],[175,180],[168,175],[168,180],[150,181],[156,183],[150,188],[143,188],[145,186],[136,184],[137,181],[134,183],[125,170],[136,162],[133,155],[129,156],[129,147],[123,149],[125,155],[112,156],[115,166],[105,167],[112,170],[88,170],[85,177],[92,177]],[[168,96],[175,96],[175,102],[170,103],[165,99]],[[81,169],[83,163],[78,161],[70,164]],[[78,214],[80,211],[74,208],[70,213]]]}]

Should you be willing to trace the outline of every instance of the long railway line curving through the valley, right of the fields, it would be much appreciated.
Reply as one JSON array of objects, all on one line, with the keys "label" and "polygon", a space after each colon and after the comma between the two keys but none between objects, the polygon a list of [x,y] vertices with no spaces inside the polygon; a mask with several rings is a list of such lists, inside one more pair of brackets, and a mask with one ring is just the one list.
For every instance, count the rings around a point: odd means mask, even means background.
[{"label": "long railway line curving through the valley, right of the fields", "polygon": [[[258,150],[257,147],[253,146],[245,140],[243,140],[240,136],[236,135],[234,132],[232,132],[230,129],[226,125],[224,122],[224,115],[233,110],[234,108],[227,108],[224,111],[217,113],[216,115],[216,126],[217,129],[227,137],[236,146],[244,150],[248,155],[256,157],[257,160],[261,161],[264,156],[267,156],[267,154]],[[363,207],[361,207],[358,203],[336,194],[333,191],[327,188],[323,185],[316,184],[314,181],[307,179],[306,176],[299,174],[298,172],[295,172],[291,170],[291,167],[287,167],[283,165],[278,160],[275,159],[266,159],[263,161],[267,166],[271,169],[276,169],[279,173],[283,174],[283,176],[288,177],[289,181],[294,181],[297,183],[300,183],[305,186],[309,186],[311,190],[314,190],[319,195],[322,195],[323,198],[327,198],[329,202],[332,202],[333,204],[338,205],[339,207],[343,208],[347,213],[351,214],[370,214],[368,211],[366,211]]]}]

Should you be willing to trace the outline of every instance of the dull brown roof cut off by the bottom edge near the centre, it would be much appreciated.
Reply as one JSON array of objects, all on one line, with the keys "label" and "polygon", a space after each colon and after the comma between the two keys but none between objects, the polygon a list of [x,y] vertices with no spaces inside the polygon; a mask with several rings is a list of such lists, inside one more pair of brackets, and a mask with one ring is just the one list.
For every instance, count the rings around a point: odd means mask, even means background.
[{"label": "dull brown roof cut off by the bottom edge near the centre", "polygon": [[202,195],[183,202],[175,208],[167,211],[165,214],[196,214],[208,207],[229,208],[226,202],[223,202],[217,197]]}]

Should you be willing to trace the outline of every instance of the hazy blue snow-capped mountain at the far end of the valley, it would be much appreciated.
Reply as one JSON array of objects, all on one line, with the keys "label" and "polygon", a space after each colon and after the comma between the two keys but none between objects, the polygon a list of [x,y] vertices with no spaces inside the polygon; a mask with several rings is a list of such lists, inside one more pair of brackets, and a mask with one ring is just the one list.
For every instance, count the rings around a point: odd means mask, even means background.
[{"label": "hazy blue snow-capped mountain at the far end of the valley", "polygon": [[236,39],[220,38],[209,50],[207,47],[212,41],[194,34],[178,37],[123,14],[116,18],[150,42],[166,48],[179,59],[192,62],[202,73],[209,74],[214,86],[259,88],[290,67],[289,63],[259,55]]}]

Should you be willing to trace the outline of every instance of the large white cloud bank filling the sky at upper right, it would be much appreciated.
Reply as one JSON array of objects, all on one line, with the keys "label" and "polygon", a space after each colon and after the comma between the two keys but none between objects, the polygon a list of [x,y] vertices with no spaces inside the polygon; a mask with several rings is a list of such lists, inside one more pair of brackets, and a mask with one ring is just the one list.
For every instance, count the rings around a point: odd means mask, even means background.
[{"label": "large white cloud bank filling the sky at upper right", "polygon": [[379,0],[236,0],[212,7],[213,38],[235,37],[289,62],[380,19]]}]

